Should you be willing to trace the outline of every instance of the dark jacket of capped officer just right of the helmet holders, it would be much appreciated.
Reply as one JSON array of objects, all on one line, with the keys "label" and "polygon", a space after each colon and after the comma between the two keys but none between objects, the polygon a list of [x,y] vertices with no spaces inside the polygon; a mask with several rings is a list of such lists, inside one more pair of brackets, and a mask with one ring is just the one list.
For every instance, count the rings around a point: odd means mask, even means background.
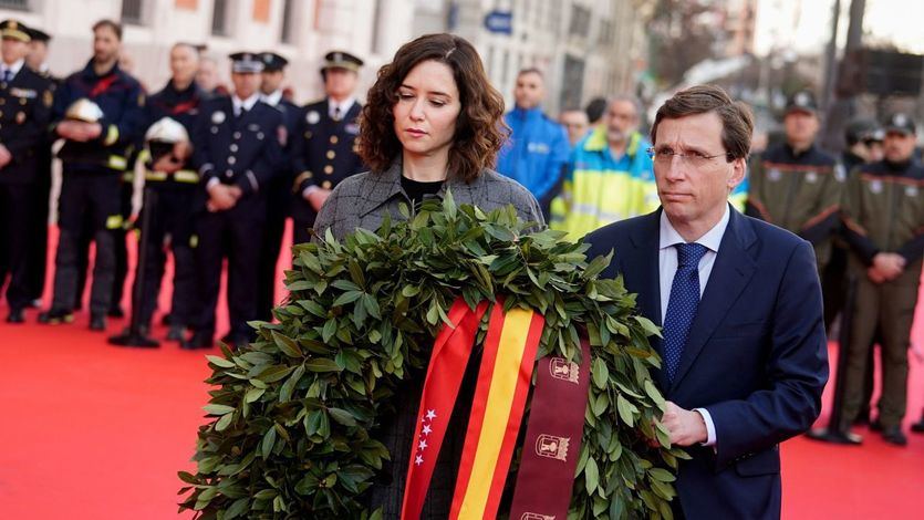
[{"label": "dark jacket of capped officer just right of the helmet holders", "polygon": [[282,114],[263,102],[239,117],[230,97],[205,102],[193,136],[200,181],[237,185],[245,197],[260,191],[282,162],[281,127]]}]

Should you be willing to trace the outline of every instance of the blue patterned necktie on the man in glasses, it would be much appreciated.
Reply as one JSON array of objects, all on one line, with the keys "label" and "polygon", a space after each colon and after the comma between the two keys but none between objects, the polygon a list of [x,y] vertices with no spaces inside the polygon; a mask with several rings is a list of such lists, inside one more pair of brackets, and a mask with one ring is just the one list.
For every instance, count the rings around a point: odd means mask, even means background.
[{"label": "blue patterned necktie on the man in glasses", "polygon": [[671,299],[664,316],[664,362],[673,382],[681,365],[689,325],[699,306],[699,260],[706,254],[702,243],[677,243],[677,272],[671,284]]}]

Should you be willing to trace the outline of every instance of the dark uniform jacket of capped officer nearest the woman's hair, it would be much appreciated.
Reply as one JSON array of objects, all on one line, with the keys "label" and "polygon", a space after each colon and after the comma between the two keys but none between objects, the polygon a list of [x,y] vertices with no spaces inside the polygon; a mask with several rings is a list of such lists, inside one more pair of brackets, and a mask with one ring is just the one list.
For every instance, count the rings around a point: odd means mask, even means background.
[{"label": "dark uniform jacket of capped officer nearest the woman's hair", "polygon": [[362,106],[353,103],[341,121],[329,114],[328,101],[305,105],[292,136],[292,185],[294,204],[292,217],[300,222],[313,222],[316,214],[302,197],[309,186],[333,189],[343,179],[365,170],[356,155],[355,139],[360,133],[356,118]]}]

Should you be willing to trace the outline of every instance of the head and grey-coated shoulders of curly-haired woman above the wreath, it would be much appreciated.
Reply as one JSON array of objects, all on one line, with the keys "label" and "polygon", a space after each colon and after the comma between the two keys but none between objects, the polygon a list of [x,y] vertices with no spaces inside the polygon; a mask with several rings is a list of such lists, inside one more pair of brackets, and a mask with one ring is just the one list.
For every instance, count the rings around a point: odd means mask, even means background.
[{"label": "head and grey-coated shoulders of curly-haired woman above the wreath", "polygon": [[453,34],[404,44],[378,71],[360,116],[360,155],[371,171],[338,185],[314,223],[342,238],[376,229],[401,202],[417,206],[450,190],[457,204],[485,211],[512,204],[526,221],[544,225],[530,193],[490,169],[506,138],[503,98],[478,52]]}]

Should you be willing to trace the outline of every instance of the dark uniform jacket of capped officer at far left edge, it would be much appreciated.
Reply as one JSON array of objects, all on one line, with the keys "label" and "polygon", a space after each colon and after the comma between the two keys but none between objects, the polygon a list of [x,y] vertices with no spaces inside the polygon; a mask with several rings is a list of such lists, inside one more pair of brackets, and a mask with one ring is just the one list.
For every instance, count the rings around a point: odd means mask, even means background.
[{"label": "dark uniform jacket of capped officer at far left edge", "polygon": [[51,117],[51,82],[23,65],[12,81],[0,82],[0,144],[12,155],[0,168],[0,183],[38,180]]}]

